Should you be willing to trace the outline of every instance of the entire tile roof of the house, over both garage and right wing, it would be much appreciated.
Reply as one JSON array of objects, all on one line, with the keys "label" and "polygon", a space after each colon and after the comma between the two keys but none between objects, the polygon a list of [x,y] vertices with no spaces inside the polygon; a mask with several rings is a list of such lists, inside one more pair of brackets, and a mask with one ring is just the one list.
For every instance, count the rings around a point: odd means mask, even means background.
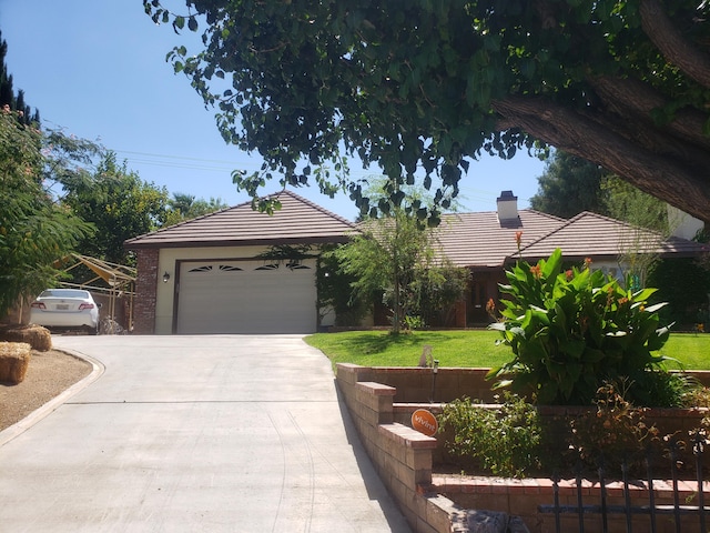
[{"label": "entire tile roof of the house, over both garage and right wing", "polygon": [[[313,244],[346,242],[357,231],[352,222],[291,192],[277,194],[282,209],[273,215],[252,210],[251,202],[181,222],[125,241],[128,249],[234,245]],[[438,228],[442,253],[457,266],[500,268],[520,251],[532,261],[560,248],[565,258],[615,258],[622,249],[642,248],[651,253],[694,255],[707,244],[679,238],[663,241],[657,233],[591,212],[565,220],[530,209],[518,218],[498,219],[497,211],[445,214]],[[640,235],[640,238],[638,237]]]}]

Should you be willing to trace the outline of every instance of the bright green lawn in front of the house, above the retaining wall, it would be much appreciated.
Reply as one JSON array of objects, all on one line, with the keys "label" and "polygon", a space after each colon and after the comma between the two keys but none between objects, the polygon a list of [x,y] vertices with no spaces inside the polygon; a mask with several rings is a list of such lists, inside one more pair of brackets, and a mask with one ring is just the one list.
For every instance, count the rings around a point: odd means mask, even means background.
[{"label": "bright green lawn in front of the house, above the retaining wall", "polygon": [[[486,330],[415,331],[390,335],[386,331],[316,333],[305,341],[335,363],[363,366],[416,366],[425,344],[442,366],[496,368],[513,358],[510,348],[496,345],[498,332]],[[710,370],[710,334],[673,333],[661,353],[680,362],[669,369]]]}]

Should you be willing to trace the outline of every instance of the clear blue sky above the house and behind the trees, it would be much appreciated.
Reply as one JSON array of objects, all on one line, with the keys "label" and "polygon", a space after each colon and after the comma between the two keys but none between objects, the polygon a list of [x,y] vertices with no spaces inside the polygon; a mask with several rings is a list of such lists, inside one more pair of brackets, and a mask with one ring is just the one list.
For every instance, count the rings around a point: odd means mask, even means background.
[{"label": "clear blue sky above the house and behind the trees", "polygon": [[[229,204],[248,200],[232,184],[231,171],[257,170],[257,154],[227,147],[215,111],[165,62],[174,46],[196,51],[189,44],[199,43],[194,33],[181,37],[170,26],[155,26],[140,0],[0,0],[0,31],[13,87],[39,108],[43,125],[100,141],[141,179],[171,193]],[[352,163],[353,175],[379,173],[361,167]],[[544,169],[525,153],[474,161],[460,182],[460,210],[494,210],[501,190],[513,190],[519,207],[528,207]],[[265,192],[277,188],[274,182]],[[295,192],[349,220],[357,214],[346,194],[331,200],[315,185]]]}]

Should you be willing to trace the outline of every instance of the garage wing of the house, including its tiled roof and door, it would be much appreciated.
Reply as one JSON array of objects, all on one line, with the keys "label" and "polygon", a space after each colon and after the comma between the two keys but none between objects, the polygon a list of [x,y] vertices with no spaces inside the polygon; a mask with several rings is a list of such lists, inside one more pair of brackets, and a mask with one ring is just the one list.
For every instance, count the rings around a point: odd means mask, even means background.
[{"label": "garage wing of the house, including its tiled roof and door", "polygon": [[307,333],[318,247],[347,220],[288,191],[273,215],[251,202],[130,239],[138,258],[135,333]]}]

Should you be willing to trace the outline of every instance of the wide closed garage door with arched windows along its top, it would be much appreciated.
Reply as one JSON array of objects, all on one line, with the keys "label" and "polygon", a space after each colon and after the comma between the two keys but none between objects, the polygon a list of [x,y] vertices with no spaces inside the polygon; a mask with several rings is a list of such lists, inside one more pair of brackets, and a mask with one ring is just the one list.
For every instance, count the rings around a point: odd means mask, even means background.
[{"label": "wide closed garage door with arched windows along its top", "polygon": [[313,333],[315,262],[277,268],[263,261],[184,262],[178,333]]}]

